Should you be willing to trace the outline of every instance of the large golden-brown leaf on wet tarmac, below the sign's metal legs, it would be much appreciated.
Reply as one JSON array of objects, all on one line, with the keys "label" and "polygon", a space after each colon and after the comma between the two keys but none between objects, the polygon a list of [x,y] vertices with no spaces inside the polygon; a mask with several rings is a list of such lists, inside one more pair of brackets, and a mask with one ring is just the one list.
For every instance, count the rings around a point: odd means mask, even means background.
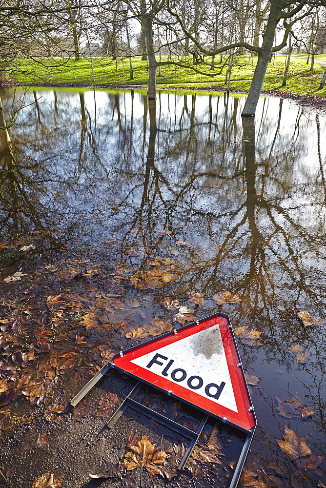
[{"label": "large golden-brown leaf on wet tarmac, below the sign's metal legs", "polygon": [[159,451],[147,436],[143,435],[135,446],[129,447],[124,457],[126,459],[122,462],[122,466],[127,471],[146,468],[151,474],[161,474],[160,470],[163,468],[167,454]]}]

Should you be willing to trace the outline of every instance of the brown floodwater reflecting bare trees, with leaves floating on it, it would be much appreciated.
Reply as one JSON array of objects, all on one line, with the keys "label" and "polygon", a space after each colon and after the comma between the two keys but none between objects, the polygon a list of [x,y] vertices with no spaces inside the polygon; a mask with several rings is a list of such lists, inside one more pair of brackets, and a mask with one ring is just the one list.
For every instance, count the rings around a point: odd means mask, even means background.
[{"label": "brown floodwater reflecting bare trees, with leaves floating on it", "polygon": [[[1,97],[9,112],[12,92]],[[13,150],[2,143],[0,239],[36,250],[21,258],[4,248],[1,279],[28,276],[46,255],[53,265],[71,249],[96,253],[89,279],[52,281],[47,293],[95,286],[119,296],[108,319],[128,331],[146,325],[147,335],[135,342],[121,328],[80,327],[85,341],[93,334],[112,350],[148,339],[155,317],[180,326],[164,298],[194,309],[189,321],[227,313],[249,331],[238,329],[238,347],[246,373],[260,378],[249,386],[257,429],[246,471],[256,478],[243,486],[325,487],[326,118],[261,98],[255,119],[243,121],[244,102],[162,92],[155,106],[136,91],[27,91]],[[240,303],[218,305],[223,290]],[[204,295],[196,302],[195,293]],[[300,311],[314,323],[305,326]],[[302,439],[294,454],[277,442],[285,428]]]}]

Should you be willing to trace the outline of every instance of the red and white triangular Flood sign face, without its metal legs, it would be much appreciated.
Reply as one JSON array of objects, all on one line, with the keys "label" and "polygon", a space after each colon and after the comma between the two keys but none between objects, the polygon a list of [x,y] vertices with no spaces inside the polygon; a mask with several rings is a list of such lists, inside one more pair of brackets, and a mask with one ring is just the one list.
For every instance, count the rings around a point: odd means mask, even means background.
[{"label": "red and white triangular Flood sign face, without its metal legs", "polygon": [[256,425],[227,315],[207,317],[122,351],[111,363],[225,423],[243,430]]}]

